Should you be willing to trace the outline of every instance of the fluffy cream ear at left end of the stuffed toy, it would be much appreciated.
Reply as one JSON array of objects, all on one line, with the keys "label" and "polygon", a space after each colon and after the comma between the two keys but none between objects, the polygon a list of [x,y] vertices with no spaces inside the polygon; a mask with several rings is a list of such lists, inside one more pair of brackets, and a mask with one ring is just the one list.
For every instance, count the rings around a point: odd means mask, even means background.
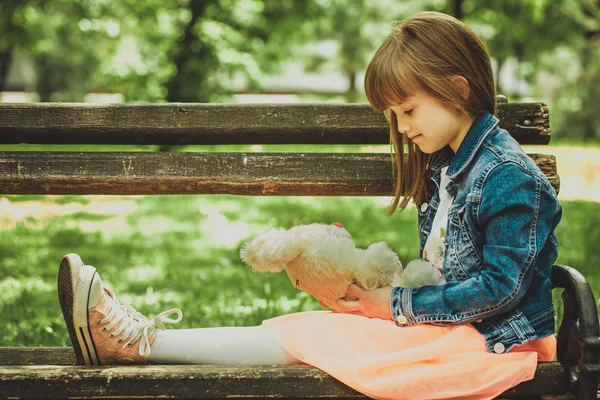
[{"label": "fluffy cream ear at left end of the stuffed toy", "polygon": [[292,239],[283,228],[271,229],[246,243],[240,257],[254,271],[279,272],[299,254]]}]

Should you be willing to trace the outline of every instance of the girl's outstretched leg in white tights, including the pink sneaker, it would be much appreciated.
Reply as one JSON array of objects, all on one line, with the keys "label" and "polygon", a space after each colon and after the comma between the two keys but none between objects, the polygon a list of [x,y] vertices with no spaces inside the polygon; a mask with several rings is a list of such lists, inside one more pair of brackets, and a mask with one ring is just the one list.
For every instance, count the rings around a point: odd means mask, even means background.
[{"label": "girl's outstretched leg in white tights, including the pink sneaker", "polygon": [[[58,296],[79,364],[148,361],[198,364],[291,364],[295,360],[261,327],[157,330],[181,310],[148,319],[122,306],[96,269],[76,254],[60,264]],[[176,319],[169,315],[176,314]]]}]

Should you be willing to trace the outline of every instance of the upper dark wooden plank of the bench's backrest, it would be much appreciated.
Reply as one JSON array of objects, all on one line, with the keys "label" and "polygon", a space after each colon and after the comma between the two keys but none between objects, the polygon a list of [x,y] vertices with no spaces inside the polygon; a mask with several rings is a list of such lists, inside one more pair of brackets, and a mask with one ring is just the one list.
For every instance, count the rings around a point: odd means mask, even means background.
[{"label": "upper dark wooden plank of the bench's backrest", "polygon": [[[543,103],[498,106],[521,144],[550,140]],[[367,104],[0,104],[0,143],[387,144],[388,124]]]}]

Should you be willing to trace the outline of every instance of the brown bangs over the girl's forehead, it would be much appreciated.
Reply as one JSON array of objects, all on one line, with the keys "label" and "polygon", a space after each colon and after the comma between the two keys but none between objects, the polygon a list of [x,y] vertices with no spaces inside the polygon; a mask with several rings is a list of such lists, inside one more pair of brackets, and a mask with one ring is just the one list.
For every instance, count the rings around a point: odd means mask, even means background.
[{"label": "brown bangs over the girl's forehead", "polygon": [[401,104],[421,87],[418,74],[398,51],[396,38],[389,37],[373,56],[365,73],[365,94],[375,111]]}]

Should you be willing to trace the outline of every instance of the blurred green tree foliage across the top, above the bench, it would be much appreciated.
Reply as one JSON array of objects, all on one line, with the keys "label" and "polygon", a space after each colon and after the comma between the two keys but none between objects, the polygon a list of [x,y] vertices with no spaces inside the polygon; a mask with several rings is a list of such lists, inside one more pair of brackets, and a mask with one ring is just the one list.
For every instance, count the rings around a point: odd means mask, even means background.
[{"label": "blurred green tree foliage across the top, above the bench", "polygon": [[[487,43],[497,76],[516,60],[520,97],[556,111],[556,133],[597,139],[598,0],[2,0],[0,91],[15,54],[34,65],[42,101],[90,91],[126,101],[218,102],[262,90],[282,62],[340,71],[347,101],[394,21],[423,9],[461,17]],[[328,52],[315,44],[328,42]],[[564,112],[563,112],[564,111]],[[569,127],[569,129],[566,129]]]}]

